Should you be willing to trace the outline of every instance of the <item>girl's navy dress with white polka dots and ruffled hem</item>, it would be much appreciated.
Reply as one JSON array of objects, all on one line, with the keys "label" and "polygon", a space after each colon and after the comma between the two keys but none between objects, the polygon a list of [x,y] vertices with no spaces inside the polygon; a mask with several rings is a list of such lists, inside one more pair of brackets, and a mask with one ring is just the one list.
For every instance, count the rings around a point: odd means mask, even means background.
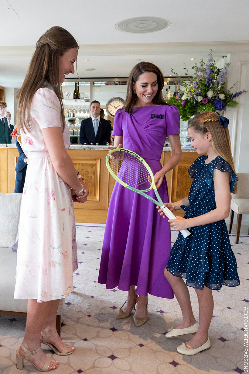
[{"label": "girl's navy dress with white polka dots and ruffled hem", "polygon": [[[230,165],[217,156],[205,165],[208,156],[198,157],[189,168],[193,178],[189,191],[189,206],[184,218],[197,217],[216,208],[214,196],[214,169],[230,172],[230,190],[234,190],[237,175]],[[190,229],[191,235],[184,238],[181,233],[173,245],[166,269],[174,276],[186,278],[187,286],[203,289],[221,289],[240,284],[237,263],[228,237],[225,220]]]}]

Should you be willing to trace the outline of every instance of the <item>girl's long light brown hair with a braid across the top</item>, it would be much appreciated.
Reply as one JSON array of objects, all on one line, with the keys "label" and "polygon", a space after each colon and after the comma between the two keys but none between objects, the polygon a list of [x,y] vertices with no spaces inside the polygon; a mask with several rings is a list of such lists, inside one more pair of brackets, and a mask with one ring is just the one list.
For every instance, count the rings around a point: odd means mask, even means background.
[{"label": "girl's long light brown hair with a braid across the top", "polygon": [[[205,135],[207,132],[210,133],[212,137],[212,148],[216,154],[222,157],[226,162],[229,163],[233,171],[234,161],[231,151],[231,141],[228,127],[225,128],[220,125],[219,116],[217,113],[205,111],[197,114],[189,123],[188,129],[192,128],[194,132],[198,134]],[[234,191],[236,193],[237,183],[234,186]]]}]

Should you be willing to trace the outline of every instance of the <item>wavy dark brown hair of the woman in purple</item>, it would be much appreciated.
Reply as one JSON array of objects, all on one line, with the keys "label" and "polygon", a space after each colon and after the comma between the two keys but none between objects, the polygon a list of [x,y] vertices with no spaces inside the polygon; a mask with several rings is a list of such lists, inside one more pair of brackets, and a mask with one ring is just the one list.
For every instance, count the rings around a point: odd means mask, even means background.
[{"label": "wavy dark brown hair of the woman in purple", "polygon": [[143,73],[155,73],[158,82],[158,91],[153,97],[153,104],[157,105],[168,105],[162,97],[162,89],[164,88],[164,76],[161,70],[151,62],[142,61],[135,65],[131,70],[128,82],[127,82],[127,93],[123,109],[127,113],[132,113],[133,108],[137,105],[137,95],[133,91],[133,84],[137,82],[138,78]]}]

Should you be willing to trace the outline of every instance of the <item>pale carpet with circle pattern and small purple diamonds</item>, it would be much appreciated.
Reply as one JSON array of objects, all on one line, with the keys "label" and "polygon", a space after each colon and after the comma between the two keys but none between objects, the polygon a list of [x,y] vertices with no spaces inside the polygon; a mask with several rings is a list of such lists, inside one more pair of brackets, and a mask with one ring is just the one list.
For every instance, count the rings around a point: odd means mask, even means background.
[{"label": "pale carpet with circle pattern and small purple diamonds", "polygon": [[[87,225],[87,224],[85,224]],[[59,374],[201,374],[243,373],[243,311],[249,307],[249,236],[230,240],[237,258],[241,285],[222,286],[213,291],[215,308],[209,330],[211,348],[195,356],[176,351],[180,338],[166,339],[165,332],[180,322],[180,308],[175,299],[164,300],[149,295],[149,320],[136,327],[132,316],[117,320],[118,308],[126,293],[107,290],[97,283],[104,225],[77,225],[79,267],[74,274],[74,292],[66,298],[62,314],[62,339],[75,346],[72,355],[59,357]],[[172,231],[172,242],[177,233]],[[197,297],[190,289],[195,317]],[[0,316],[0,373],[20,373],[15,365],[15,350],[22,342],[24,317]],[[48,356],[52,351],[46,350]],[[22,374],[37,373],[26,363]]]}]

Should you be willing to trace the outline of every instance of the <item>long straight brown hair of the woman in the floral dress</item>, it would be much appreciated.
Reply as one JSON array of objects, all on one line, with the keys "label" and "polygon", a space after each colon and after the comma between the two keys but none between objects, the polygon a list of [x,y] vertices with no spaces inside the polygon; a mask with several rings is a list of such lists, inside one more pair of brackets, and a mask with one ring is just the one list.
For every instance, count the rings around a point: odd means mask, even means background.
[{"label": "long straight brown hair of the woman in the floral dress", "polygon": [[44,33],[36,43],[35,52],[26,77],[17,94],[16,121],[18,129],[31,131],[31,102],[35,92],[44,81],[50,83],[60,101],[62,132],[65,127],[64,110],[59,82],[59,56],[71,48],[79,48],[74,37],[65,28],[54,26]]}]

